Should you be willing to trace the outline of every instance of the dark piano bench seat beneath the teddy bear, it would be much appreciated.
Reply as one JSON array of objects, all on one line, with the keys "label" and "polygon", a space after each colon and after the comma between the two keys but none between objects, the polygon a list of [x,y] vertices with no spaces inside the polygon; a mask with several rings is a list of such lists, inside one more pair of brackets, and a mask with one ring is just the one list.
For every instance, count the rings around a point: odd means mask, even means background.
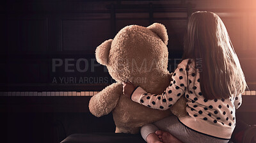
[{"label": "dark piano bench seat beneath the teddy bear", "polygon": [[145,143],[140,134],[129,133],[75,133],[60,143]]}]

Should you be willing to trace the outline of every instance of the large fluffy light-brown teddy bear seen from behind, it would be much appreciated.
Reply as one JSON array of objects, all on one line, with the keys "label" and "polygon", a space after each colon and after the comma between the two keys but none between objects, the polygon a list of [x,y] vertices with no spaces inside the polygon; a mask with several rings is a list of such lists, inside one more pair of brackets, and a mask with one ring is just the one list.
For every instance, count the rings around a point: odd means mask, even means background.
[{"label": "large fluffy light-brown teddy bear seen from behind", "polygon": [[140,127],[175,114],[186,114],[186,99],[180,98],[170,110],[156,110],[132,102],[123,94],[122,82],[130,81],[148,93],[163,93],[170,85],[168,34],[163,24],[143,27],[126,26],[113,40],[106,40],[95,50],[98,63],[108,68],[116,80],[92,96],[90,112],[97,117],[112,112],[116,133],[139,133]]}]

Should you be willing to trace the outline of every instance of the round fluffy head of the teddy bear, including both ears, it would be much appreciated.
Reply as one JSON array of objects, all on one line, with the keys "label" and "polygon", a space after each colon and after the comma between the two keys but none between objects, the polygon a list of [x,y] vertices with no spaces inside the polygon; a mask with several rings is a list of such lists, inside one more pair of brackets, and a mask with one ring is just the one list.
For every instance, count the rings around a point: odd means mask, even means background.
[{"label": "round fluffy head of the teddy bear, including both ears", "polygon": [[[96,59],[117,82],[156,82],[168,73],[168,35],[163,24],[126,26],[96,49]],[[159,79],[159,78],[158,78]],[[160,78],[161,79],[161,78]]]}]

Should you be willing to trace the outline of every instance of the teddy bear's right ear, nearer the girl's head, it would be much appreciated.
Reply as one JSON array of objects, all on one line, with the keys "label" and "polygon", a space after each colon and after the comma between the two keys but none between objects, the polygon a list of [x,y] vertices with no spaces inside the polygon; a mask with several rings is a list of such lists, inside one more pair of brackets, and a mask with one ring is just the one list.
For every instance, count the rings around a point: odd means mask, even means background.
[{"label": "teddy bear's right ear, nearer the girl's head", "polygon": [[161,38],[161,40],[163,40],[165,45],[168,44],[167,30],[163,24],[154,23],[151,26],[148,26],[147,28],[150,29],[151,31],[153,31],[154,33],[156,33],[157,36],[159,36]]}]

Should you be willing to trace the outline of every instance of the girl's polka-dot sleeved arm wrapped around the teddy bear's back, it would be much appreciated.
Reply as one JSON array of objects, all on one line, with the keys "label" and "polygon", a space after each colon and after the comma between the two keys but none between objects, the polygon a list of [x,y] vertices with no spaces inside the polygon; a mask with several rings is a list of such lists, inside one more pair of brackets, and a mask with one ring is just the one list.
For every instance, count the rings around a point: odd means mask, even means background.
[{"label": "girl's polka-dot sleeved arm wrapped around the teddy bear's back", "polygon": [[[147,93],[147,91],[138,86],[129,96],[131,96],[132,101],[152,109],[167,110],[184,94],[187,87],[186,76],[186,68],[180,63],[172,75],[173,80],[170,82],[170,86],[162,94]],[[129,86],[127,87],[129,88]]]}]

